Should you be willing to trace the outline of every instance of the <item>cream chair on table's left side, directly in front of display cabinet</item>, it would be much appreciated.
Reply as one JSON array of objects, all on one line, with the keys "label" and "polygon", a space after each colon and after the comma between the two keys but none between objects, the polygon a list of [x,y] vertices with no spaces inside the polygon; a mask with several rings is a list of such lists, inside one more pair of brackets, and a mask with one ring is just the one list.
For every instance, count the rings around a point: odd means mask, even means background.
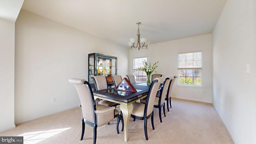
[{"label": "cream chair on table's left side, directly in front of display cabinet", "polygon": [[[95,90],[104,90],[108,88],[108,82],[105,76],[92,76],[94,81]],[[104,106],[117,106],[118,103],[110,102],[107,100],[99,100],[98,104]]]}]

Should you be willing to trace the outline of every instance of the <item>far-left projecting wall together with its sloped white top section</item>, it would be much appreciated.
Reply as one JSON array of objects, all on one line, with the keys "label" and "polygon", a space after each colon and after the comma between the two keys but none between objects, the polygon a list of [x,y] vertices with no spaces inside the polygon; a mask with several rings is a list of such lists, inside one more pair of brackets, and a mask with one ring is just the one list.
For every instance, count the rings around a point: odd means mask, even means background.
[{"label": "far-left projecting wall together with its sloped white top section", "polygon": [[24,0],[0,1],[0,132],[14,124],[15,21]]}]

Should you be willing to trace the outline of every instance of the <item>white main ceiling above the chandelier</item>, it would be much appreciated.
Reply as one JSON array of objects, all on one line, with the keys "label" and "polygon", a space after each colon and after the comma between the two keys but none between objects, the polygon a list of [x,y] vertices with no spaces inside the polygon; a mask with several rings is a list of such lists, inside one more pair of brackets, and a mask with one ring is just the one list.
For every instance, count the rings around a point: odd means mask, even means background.
[{"label": "white main ceiling above the chandelier", "polygon": [[125,47],[212,33],[226,0],[24,0],[22,9]]}]

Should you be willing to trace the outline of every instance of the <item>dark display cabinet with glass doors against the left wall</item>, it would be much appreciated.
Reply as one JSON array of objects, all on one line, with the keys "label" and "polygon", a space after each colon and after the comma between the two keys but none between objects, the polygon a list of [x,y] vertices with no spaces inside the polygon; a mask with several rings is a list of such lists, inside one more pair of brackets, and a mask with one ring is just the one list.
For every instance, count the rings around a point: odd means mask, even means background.
[{"label": "dark display cabinet with glass doors against the left wall", "polygon": [[110,74],[117,74],[117,57],[98,53],[88,54],[88,80],[93,90],[92,76],[108,76]]}]

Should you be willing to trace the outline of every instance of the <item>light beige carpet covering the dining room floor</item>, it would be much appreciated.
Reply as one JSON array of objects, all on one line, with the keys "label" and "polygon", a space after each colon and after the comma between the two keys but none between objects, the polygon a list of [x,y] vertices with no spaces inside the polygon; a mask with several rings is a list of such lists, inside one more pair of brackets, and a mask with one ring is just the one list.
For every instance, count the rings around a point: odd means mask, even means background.
[{"label": "light beige carpet covering the dining room floor", "polygon": [[[117,107],[119,108],[119,107]],[[154,108],[154,126],[148,119],[148,140],[144,135],[143,120],[128,124],[128,142],[124,132],[116,133],[116,119],[110,125],[97,128],[97,144],[234,144],[212,104],[172,98],[170,112],[162,112],[159,120],[158,108]],[[93,129],[86,125],[84,139],[81,136],[81,108],[38,118],[16,128],[1,132],[0,136],[24,136],[24,144],[92,144]],[[121,129],[121,123],[119,129]]]}]

